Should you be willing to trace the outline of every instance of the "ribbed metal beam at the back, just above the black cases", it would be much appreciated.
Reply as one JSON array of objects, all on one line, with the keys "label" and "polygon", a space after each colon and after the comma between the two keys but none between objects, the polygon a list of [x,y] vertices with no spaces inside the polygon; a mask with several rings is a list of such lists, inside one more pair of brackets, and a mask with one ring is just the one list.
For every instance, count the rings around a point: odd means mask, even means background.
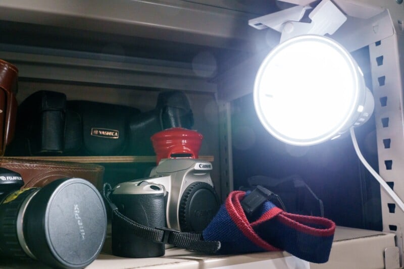
[{"label": "ribbed metal beam at the back, just above the black cases", "polygon": [[216,66],[0,43],[0,59],[20,80],[51,80],[118,87],[217,91],[207,80]]}]

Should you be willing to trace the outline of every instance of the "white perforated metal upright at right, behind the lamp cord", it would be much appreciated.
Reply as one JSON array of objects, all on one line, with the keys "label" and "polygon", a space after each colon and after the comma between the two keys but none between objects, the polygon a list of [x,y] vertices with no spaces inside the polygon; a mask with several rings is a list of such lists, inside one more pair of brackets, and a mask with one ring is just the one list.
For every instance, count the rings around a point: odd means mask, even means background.
[{"label": "white perforated metal upright at right, behind the lamp cord", "polygon": [[[377,1],[372,1],[379,4]],[[384,1],[386,2],[386,1]],[[369,45],[379,174],[404,200],[404,5],[395,1],[385,3],[389,9],[395,33]],[[397,12],[400,11],[400,12]],[[401,57],[400,57],[401,55]],[[396,234],[396,245],[400,250],[400,265],[403,266],[404,212],[395,205],[381,189],[383,230]]]}]

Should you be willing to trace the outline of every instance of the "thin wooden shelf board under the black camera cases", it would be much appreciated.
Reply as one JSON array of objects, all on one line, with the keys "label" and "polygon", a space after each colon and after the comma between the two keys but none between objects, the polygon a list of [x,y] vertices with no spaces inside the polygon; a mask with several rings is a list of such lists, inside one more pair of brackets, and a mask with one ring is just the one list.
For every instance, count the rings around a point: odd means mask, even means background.
[{"label": "thin wooden shelf board under the black camera cases", "polygon": [[[7,156],[4,158],[31,159],[31,160],[52,160],[56,162],[74,163],[155,163],[156,156]],[[214,156],[199,156],[199,159],[213,162]]]}]

